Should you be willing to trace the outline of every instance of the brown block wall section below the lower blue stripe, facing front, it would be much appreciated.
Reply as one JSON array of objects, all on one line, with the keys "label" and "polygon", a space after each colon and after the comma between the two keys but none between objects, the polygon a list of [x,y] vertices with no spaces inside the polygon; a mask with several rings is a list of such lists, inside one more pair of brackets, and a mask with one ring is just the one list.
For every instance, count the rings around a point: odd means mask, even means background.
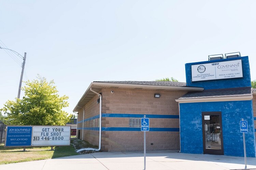
[{"label": "brown block wall section below the lower blue stripe, facing front", "polygon": [[[103,151],[143,151],[144,135],[141,131],[106,131],[102,141]],[[179,132],[146,132],[146,148],[153,150],[177,150],[180,148]]]}]

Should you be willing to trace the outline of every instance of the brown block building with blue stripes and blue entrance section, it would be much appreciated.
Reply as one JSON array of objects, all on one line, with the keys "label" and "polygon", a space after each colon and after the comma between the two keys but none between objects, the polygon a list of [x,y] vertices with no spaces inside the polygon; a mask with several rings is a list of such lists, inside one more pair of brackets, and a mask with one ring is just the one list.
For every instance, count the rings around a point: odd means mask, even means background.
[{"label": "brown block building with blue stripes and blue entrance section", "polygon": [[[239,67],[221,70],[231,74],[242,72],[236,79],[215,80],[207,73],[209,65],[214,66],[216,62],[237,61],[241,61]],[[147,150],[242,156],[243,150],[236,151],[236,146],[242,145],[242,133],[238,131],[239,120],[244,117],[250,125],[246,134],[248,156],[255,157],[256,102],[248,57],[188,63],[185,67],[186,83],[92,82],[73,110],[78,112],[77,136],[99,145],[101,111],[102,151],[143,151],[140,119],[146,115],[150,118]],[[199,75],[196,77],[200,78],[202,72],[204,80],[192,78],[194,67]],[[102,96],[101,101],[95,92]]]}]

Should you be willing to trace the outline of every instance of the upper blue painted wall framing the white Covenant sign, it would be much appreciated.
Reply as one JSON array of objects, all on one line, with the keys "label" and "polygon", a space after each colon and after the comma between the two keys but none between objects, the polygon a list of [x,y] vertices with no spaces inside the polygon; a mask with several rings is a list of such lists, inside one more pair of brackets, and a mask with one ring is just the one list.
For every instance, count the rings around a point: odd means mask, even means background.
[{"label": "upper blue painted wall framing the white Covenant sign", "polygon": [[[197,63],[187,63],[185,64],[186,68],[186,83],[187,86],[193,87],[203,87],[206,89],[219,89],[219,88],[234,88],[234,87],[251,87],[251,75],[250,75],[250,65],[248,56],[238,57],[236,59],[242,59],[243,67],[243,78],[238,79],[225,79],[225,80],[210,80],[210,81],[201,81],[201,82],[191,82],[191,65],[213,63],[213,61],[197,62]],[[214,60],[216,62],[230,61],[234,58],[223,59],[223,60]]]}]

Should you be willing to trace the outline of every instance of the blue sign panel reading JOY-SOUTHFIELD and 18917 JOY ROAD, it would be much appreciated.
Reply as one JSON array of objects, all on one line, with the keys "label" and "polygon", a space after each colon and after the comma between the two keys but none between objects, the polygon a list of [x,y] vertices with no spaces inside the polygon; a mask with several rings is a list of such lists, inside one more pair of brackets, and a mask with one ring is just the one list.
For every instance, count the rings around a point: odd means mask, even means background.
[{"label": "blue sign panel reading JOY-SOUTHFIELD and 18917 JOY ROAD", "polygon": [[5,147],[31,146],[32,126],[7,126]]}]

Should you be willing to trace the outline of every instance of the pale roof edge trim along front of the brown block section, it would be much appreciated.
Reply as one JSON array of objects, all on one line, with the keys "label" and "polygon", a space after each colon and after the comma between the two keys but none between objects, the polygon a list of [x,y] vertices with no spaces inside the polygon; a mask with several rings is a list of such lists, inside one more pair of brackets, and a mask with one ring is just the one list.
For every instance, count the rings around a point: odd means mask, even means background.
[{"label": "pale roof edge trim along front of the brown block section", "polygon": [[148,89],[174,89],[174,90],[193,90],[203,91],[202,87],[179,87],[179,86],[160,86],[160,85],[144,85],[144,84],[124,84],[124,83],[101,83],[93,82],[96,86],[112,86],[112,87],[134,87],[134,88],[148,88]]}]

